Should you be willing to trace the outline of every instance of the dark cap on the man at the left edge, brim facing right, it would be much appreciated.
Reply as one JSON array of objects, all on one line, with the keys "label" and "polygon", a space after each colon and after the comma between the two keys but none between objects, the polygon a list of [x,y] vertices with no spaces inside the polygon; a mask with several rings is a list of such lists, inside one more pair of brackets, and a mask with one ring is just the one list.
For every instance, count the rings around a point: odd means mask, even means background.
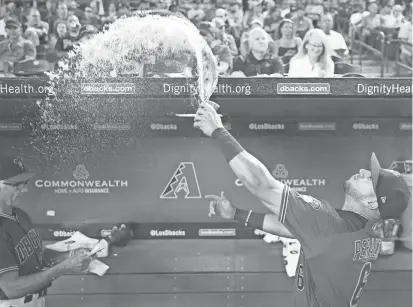
[{"label": "dark cap on the man at the left edge, brim facing right", "polygon": [[0,157],[0,181],[20,183],[31,179],[34,175],[24,167],[18,158],[13,156]]}]

